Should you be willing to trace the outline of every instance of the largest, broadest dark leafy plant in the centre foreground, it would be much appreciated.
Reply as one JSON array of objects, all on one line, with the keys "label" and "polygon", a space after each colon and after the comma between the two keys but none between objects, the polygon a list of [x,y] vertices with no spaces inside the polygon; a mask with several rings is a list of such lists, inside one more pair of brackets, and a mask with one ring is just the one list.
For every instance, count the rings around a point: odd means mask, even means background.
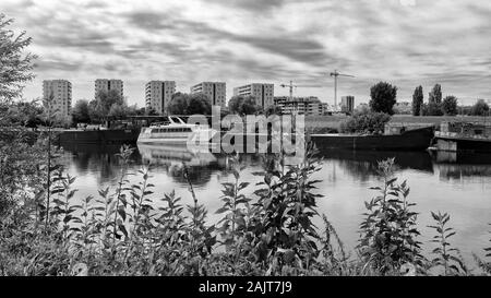
[{"label": "largest, broadest dark leafy plant in the centre foreground", "polygon": [[276,167],[255,174],[264,177],[259,183],[264,188],[254,192],[259,200],[253,204],[252,243],[256,260],[268,264],[267,274],[309,270],[320,254],[320,236],[312,223],[312,217],[319,215],[315,201],[323,196],[313,193],[319,180],[311,176],[320,169],[315,153],[310,145],[303,163],[289,167],[285,174]]}]

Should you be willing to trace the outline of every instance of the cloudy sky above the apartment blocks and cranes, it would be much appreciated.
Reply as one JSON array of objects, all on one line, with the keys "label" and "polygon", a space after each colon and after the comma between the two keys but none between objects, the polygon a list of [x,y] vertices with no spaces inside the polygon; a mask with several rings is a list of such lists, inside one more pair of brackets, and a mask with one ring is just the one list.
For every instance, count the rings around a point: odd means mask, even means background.
[{"label": "cloudy sky above the apartment blocks and cranes", "polygon": [[339,95],[367,102],[387,81],[410,100],[417,85],[441,83],[464,103],[491,99],[489,0],[1,0],[13,28],[34,38],[37,79],[68,79],[73,99],[94,97],[94,80],[124,81],[129,103],[144,104],[144,84],[173,80],[178,91],[201,81],[279,84],[296,95],[333,103]]}]

